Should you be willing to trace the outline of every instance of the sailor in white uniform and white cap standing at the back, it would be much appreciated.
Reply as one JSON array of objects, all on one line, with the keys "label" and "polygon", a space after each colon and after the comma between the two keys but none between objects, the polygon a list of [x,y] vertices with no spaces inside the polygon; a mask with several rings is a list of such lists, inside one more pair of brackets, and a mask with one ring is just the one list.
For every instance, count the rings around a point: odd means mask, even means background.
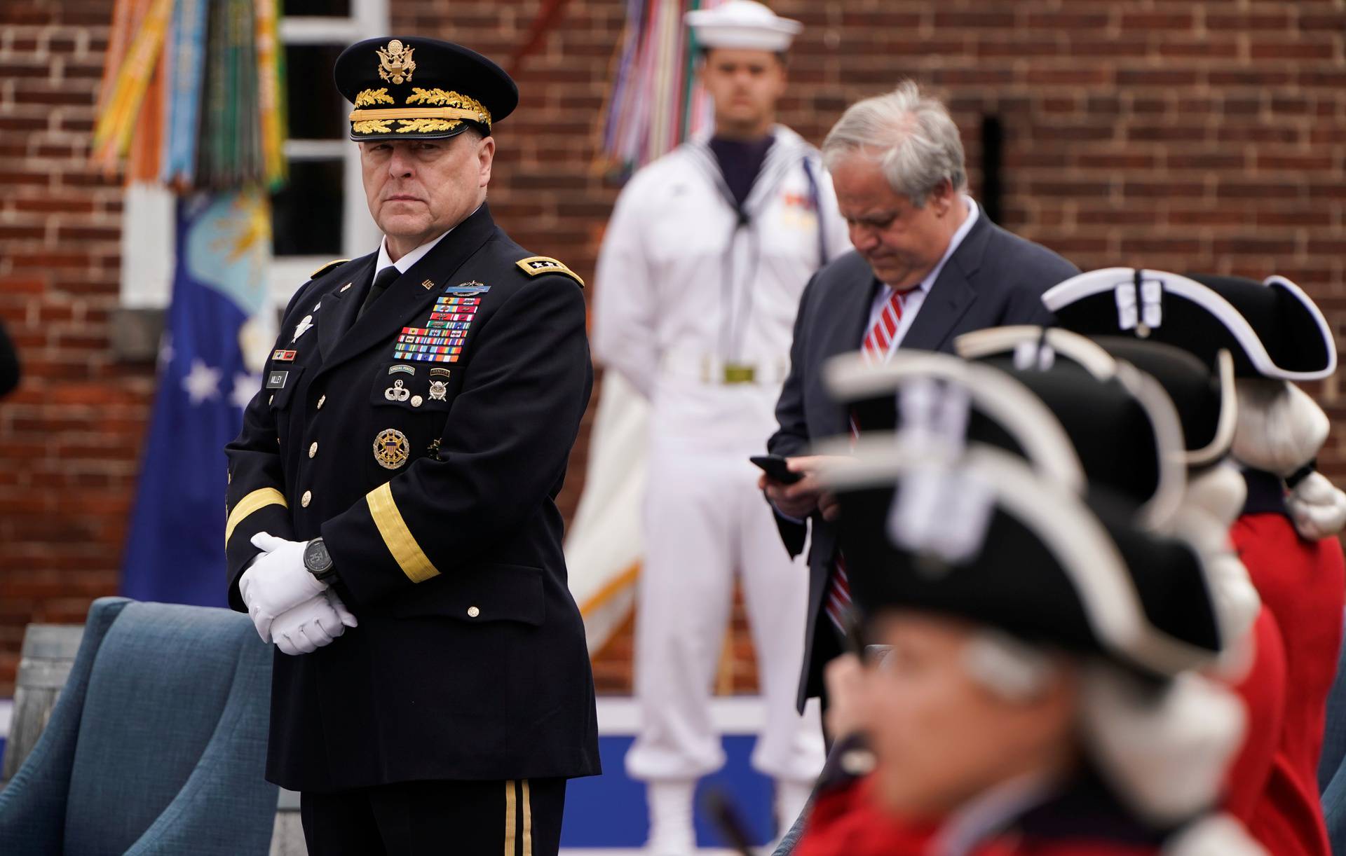
[{"label": "sailor in white uniform and white cap standing at the back", "polygon": [[724,763],[709,694],[735,572],[766,723],[752,764],[789,825],[822,766],[817,716],[794,709],[808,579],[781,550],[748,456],[773,427],[808,279],[849,249],[817,149],[777,124],[797,22],[750,0],[686,15],[715,128],[623,188],[598,261],[594,350],[653,406],[646,555],[635,622],[649,851],[695,849],[696,781]]}]

